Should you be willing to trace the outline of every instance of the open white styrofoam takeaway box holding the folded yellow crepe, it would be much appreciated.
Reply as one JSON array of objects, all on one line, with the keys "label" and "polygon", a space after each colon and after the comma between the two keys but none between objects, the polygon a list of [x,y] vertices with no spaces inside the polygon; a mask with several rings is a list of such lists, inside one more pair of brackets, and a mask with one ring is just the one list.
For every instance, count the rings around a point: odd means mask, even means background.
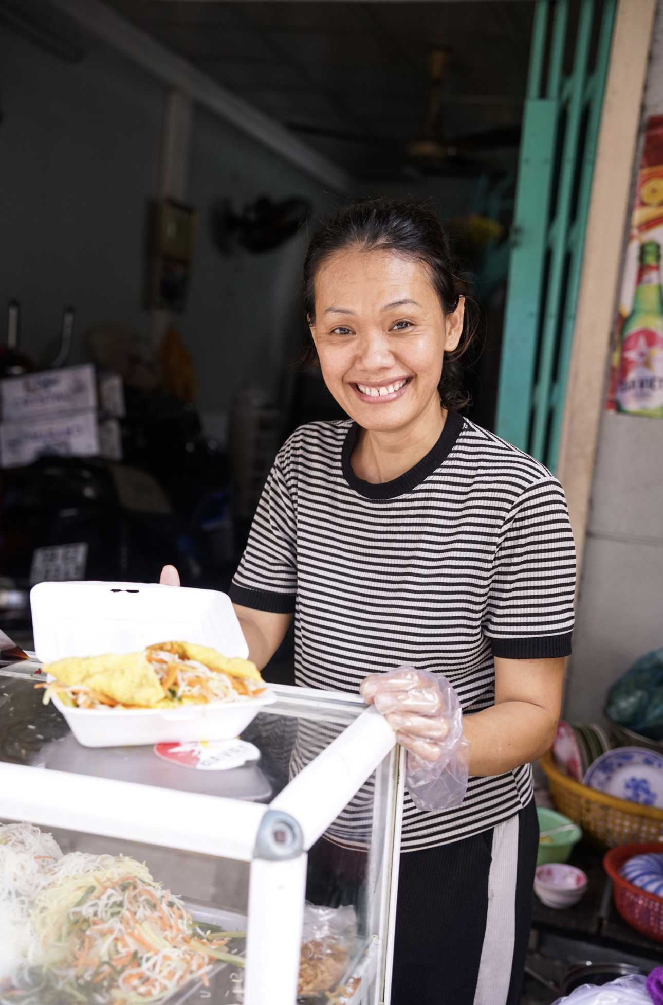
[{"label": "open white styrofoam takeaway box holding the folded yellow crepe", "polygon": [[[157,583],[38,583],[30,591],[30,604],[34,647],[44,663],[138,652],[168,641],[210,645],[224,656],[248,656],[230,598],[216,590]],[[228,740],[275,699],[267,688],[250,701],[182,709],[70,709],[53,695],[83,747]]]}]

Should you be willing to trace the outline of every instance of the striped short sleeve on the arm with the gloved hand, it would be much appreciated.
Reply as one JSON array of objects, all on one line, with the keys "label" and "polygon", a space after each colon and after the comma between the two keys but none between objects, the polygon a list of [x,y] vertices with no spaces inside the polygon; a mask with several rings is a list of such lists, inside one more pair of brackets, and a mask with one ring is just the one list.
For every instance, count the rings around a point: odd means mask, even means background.
[{"label": "striped short sleeve on the arm with the gloved hand", "polygon": [[567,500],[548,475],[525,488],[502,526],[483,621],[493,656],[570,655],[575,591]]}]

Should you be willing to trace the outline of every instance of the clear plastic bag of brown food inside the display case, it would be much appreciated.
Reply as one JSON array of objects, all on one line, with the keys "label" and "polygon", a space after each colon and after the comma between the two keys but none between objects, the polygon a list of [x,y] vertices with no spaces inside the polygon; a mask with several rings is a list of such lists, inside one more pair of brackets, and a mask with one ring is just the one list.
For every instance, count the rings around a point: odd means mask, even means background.
[{"label": "clear plastic bag of brown food inside the display case", "polygon": [[297,996],[319,995],[344,977],[358,950],[353,907],[304,906]]}]

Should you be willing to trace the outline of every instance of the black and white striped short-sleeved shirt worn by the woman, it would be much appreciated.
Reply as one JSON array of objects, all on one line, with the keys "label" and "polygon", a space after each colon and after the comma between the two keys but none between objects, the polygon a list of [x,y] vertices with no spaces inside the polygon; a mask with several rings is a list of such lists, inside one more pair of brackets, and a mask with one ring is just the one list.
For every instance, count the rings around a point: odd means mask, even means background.
[{"label": "black and white striped short-sleeved shirt worn by the woman", "polygon": [[[576,557],[560,482],[456,413],[393,481],[358,478],[350,420],[281,448],[230,596],[295,614],[297,683],[357,692],[402,663],[444,673],[465,713],[493,703],[493,656],[571,652]],[[403,850],[494,827],[531,797],[531,769],[471,778],[457,809],[406,794]]]}]

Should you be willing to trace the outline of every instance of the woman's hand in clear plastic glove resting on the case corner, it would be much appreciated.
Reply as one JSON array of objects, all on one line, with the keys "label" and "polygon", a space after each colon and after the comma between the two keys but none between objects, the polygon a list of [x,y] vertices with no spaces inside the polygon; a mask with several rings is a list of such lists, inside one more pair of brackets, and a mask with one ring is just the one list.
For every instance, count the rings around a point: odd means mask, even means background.
[{"label": "woman's hand in clear plastic glove resting on the case corner", "polygon": [[442,694],[430,677],[404,666],[389,676],[372,673],[362,681],[360,692],[385,717],[406,750],[422,761],[439,760],[449,723]]}]

